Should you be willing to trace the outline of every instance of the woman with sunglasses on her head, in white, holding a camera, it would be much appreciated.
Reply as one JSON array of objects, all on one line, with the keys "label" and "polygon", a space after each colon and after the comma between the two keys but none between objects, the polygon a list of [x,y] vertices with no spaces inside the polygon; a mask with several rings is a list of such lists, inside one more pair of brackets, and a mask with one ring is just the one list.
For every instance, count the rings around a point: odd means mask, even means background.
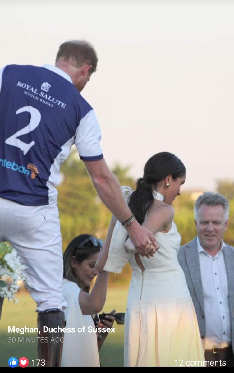
[{"label": "woman with sunglasses on her head, in white, holding a camera", "polygon": [[[63,295],[67,301],[65,312],[66,329],[64,332],[61,367],[100,366],[98,350],[107,333],[101,333],[98,341],[93,314],[102,310],[106,294],[108,272],[98,273],[95,264],[102,247],[102,240],[91,235],[74,238],[63,254]],[[89,294],[91,281],[97,276]],[[113,326],[114,317],[109,317],[105,325]]]}]

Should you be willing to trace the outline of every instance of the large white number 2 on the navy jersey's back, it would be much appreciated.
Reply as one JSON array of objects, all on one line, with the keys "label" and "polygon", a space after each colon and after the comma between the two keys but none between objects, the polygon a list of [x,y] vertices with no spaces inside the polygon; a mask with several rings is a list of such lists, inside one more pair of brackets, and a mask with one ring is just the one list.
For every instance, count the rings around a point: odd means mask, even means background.
[{"label": "large white number 2 on the navy jersey's back", "polygon": [[12,146],[16,146],[17,148],[20,148],[23,152],[23,155],[25,156],[25,154],[28,153],[29,149],[35,144],[35,142],[31,141],[29,144],[26,144],[26,142],[19,140],[17,137],[28,134],[29,132],[37,128],[41,120],[41,113],[39,112],[39,110],[35,109],[35,107],[23,106],[23,107],[20,107],[19,110],[17,110],[16,114],[23,113],[23,112],[29,112],[31,114],[31,118],[30,118],[28,125],[20,129],[19,131],[17,131],[12,136],[8,137],[5,142],[8,145],[12,145]]}]

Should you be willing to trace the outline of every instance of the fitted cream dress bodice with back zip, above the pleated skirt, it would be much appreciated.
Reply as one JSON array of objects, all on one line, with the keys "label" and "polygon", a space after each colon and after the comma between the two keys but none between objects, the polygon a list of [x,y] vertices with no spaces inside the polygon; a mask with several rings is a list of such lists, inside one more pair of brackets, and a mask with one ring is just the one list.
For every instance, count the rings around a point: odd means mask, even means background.
[{"label": "fitted cream dress bodice with back zip, above the pleated skirt", "polygon": [[128,305],[155,305],[168,300],[190,297],[183,270],[177,259],[180,235],[175,223],[172,223],[167,233],[155,233],[155,238],[160,249],[154,256],[151,258],[139,256],[145,268],[143,272],[136,262],[136,256],[130,258],[132,279]]}]

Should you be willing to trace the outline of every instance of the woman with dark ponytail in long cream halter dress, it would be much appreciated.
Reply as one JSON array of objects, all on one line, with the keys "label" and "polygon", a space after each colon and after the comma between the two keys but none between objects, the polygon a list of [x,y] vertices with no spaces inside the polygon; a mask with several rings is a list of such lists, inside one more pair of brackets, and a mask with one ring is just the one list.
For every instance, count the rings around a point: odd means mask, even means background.
[{"label": "woman with dark ponytail in long cream halter dress", "polygon": [[205,360],[196,313],[177,260],[180,235],[171,207],[185,177],[185,167],[174,154],[151,157],[136,190],[124,187],[123,193],[138,222],[154,233],[159,250],[149,255],[149,243],[146,256],[139,256],[126,230],[113,218],[108,258],[100,257],[97,263],[101,268],[107,259],[104,269],[109,272],[121,272],[127,261],[132,267],[124,366],[188,366]]}]

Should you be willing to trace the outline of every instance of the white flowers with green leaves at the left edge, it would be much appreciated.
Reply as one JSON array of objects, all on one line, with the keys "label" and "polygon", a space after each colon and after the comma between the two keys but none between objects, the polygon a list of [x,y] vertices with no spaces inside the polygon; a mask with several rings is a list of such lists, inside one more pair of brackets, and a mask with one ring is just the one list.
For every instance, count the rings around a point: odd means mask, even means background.
[{"label": "white flowers with green leaves at the left edge", "polygon": [[[14,299],[16,291],[19,289],[17,282],[19,280],[26,282],[26,277],[22,273],[22,270],[26,266],[21,264],[19,257],[17,256],[16,250],[9,244],[9,242],[0,242],[0,297],[8,298],[9,301],[14,300],[14,303],[18,303],[18,300]],[[12,278],[13,282],[10,288],[7,288],[5,280],[7,277]]]}]

